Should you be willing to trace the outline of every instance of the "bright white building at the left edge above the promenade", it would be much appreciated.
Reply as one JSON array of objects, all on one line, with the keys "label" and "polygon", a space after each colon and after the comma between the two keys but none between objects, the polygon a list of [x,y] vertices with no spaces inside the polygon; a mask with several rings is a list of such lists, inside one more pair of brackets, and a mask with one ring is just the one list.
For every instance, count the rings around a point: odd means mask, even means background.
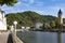
[{"label": "bright white building at the left edge above the promenade", "polygon": [[0,30],[6,30],[6,18],[4,11],[0,10]]}]

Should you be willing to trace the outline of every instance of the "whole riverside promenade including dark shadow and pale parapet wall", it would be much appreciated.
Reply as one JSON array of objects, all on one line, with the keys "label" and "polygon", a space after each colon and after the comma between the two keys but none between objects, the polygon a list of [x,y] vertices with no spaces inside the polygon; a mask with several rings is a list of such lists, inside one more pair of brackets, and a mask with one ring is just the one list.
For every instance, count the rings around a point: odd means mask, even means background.
[{"label": "whole riverside promenade including dark shadow and pale parapet wall", "polygon": [[17,38],[14,33],[8,32],[0,32],[0,43],[23,43],[20,38]]}]

